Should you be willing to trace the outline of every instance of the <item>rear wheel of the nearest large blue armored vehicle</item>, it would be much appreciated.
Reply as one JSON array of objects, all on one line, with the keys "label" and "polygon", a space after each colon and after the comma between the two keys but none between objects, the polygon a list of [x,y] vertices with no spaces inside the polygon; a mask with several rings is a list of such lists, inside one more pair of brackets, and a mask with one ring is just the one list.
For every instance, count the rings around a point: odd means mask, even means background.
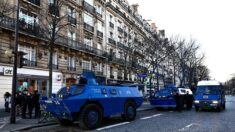
[{"label": "rear wheel of the nearest large blue armored vehicle", "polygon": [[125,104],[125,111],[122,118],[126,121],[132,121],[136,117],[136,105],[133,101],[128,101]]}]

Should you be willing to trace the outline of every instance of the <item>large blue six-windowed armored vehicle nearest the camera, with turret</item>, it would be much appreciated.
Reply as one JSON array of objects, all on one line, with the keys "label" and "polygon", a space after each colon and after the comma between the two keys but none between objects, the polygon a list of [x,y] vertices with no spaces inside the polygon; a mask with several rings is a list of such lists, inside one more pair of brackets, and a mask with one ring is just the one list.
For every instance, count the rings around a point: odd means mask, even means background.
[{"label": "large blue six-windowed armored vehicle nearest the camera, with turret", "polygon": [[79,121],[82,129],[97,128],[104,117],[121,115],[131,121],[143,98],[137,87],[99,85],[92,72],[84,72],[77,85],[61,88],[55,98],[41,100],[60,124]]}]

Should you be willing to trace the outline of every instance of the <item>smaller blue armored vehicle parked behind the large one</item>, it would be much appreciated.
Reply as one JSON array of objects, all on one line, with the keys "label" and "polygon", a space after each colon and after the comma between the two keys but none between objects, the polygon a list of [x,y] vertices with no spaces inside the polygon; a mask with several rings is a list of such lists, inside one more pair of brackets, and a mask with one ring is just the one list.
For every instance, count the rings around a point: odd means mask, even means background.
[{"label": "smaller blue armored vehicle parked behind the large one", "polygon": [[156,91],[153,96],[149,98],[150,104],[157,109],[161,108],[175,108],[176,101],[173,92],[177,90],[175,85],[165,85],[164,89]]}]

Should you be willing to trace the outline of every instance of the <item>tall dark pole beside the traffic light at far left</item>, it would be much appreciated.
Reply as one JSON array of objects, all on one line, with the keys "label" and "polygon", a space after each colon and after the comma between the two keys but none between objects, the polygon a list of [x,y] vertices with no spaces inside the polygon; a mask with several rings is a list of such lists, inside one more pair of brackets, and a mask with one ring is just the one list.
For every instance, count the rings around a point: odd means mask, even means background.
[{"label": "tall dark pole beside the traffic light at far left", "polygon": [[13,77],[12,77],[12,91],[11,91],[11,116],[10,123],[14,124],[16,122],[15,115],[15,96],[16,96],[16,83],[17,83],[17,62],[18,62],[18,29],[19,29],[19,0],[17,0],[16,7],[16,21],[15,21],[15,48],[14,48],[14,67],[13,67]]}]

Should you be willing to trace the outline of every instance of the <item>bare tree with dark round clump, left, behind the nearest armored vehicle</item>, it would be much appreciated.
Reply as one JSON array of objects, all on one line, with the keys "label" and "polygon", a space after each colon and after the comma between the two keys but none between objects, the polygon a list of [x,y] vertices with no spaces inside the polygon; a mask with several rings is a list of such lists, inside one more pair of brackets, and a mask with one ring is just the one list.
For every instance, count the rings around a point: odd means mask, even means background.
[{"label": "bare tree with dark round clump, left, behind the nearest armored vehicle", "polygon": [[67,22],[68,11],[65,10],[69,5],[67,0],[50,0],[49,3],[45,1],[42,3],[42,9],[39,13],[40,26],[44,33],[44,38],[48,42],[49,49],[49,93],[51,97],[52,92],[52,70],[53,70],[53,51],[55,42],[62,36],[64,29],[69,25]]}]

